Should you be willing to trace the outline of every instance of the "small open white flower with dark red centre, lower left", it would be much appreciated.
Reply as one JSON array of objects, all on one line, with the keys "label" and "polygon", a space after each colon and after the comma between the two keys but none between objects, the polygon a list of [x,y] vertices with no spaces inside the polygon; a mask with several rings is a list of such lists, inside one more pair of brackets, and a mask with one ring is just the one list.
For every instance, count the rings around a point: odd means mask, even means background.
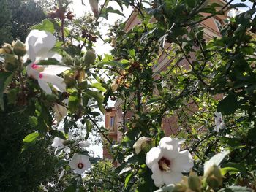
[{"label": "small open white flower with dark red centre, lower left", "polygon": [[91,163],[89,161],[89,156],[81,155],[79,153],[75,153],[72,157],[72,160],[69,161],[69,166],[74,169],[74,171],[78,174],[82,174],[89,168],[91,168]]}]

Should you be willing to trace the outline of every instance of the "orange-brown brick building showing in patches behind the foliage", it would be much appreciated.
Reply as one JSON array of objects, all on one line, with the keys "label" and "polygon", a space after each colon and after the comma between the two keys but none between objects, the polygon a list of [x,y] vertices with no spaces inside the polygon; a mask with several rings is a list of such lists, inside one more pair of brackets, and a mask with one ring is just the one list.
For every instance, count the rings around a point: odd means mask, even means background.
[{"label": "orange-brown brick building showing in patches behind the foliage", "polygon": [[[209,4],[211,3],[218,3],[224,6],[226,2],[224,0],[211,0]],[[202,14],[203,16],[207,16],[207,14]],[[220,37],[219,34],[219,28],[223,24],[223,20],[225,20],[225,15],[216,15],[213,18],[208,18],[207,20],[203,20],[202,23],[200,23],[200,26],[204,28],[204,37],[205,39],[212,39],[213,37]],[[154,22],[154,20],[153,20]],[[138,18],[137,12],[132,12],[132,14],[129,16],[129,19],[126,22],[126,26],[124,28],[125,31],[131,30],[134,26],[140,24],[140,20]],[[169,47],[168,47],[169,46]],[[170,44],[165,44],[165,47],[167,49],[170,48]],[[154,67],[154,72],[162,72],[167,69],[167,66],[170,64],[170,59],[165,53],[160,53],[159,59],[158,59],[158,65]],[[187,61],[181,61],[181,66],[188,66]],[[123,117],[123,112],[121,110],[121,100],[117,100],[116,104],[112,108],[111,112],[106,112],[105,114],[105,128],[108,129],[108,137],[112,139],[113,141],[120,141],[122,134],[120,131],[118,131],[118,128],[120,128],[121,123],[123,122],[123,119],[131,118],[132,112],[127,112],[126,116]],[[190,107],[190,106],[189,106]],[[195,106],[191,106],[194,108]],[[194,110],[194,109],[193,109]],[[196,107],[195,107],[195,110]],[[178,126],[177,126],[177,117],[174,115],[173,117],[163,119],[162,120],[162,128],[165,131],[165,135],[169,136],[170,134],[176,134],[178,132]],[[111,156],[108,153],[108,149],[103,149],[103,157],[105,158],[111,158]]]}]

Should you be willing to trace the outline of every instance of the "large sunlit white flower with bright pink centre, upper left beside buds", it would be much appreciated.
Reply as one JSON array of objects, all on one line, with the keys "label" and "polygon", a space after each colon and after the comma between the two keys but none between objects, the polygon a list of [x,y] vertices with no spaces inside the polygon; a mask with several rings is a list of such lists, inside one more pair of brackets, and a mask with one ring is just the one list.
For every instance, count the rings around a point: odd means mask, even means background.
[{"label": "large sunlit white flower with bright pink centre, upper left beside buds", "polygon": [[51,83],[58,91],[66,91],[64,79],[56,74],[69,69],[67,66],[37,65],[40,60],[47,58],[56,58],[56,60],[61,61],[61,55],[50,51],[55,42],[56,38],[53,34],[39,30],[32,30],[26,38],[27,54],[24,56],[24,59],[29,58],[31,61],[31,64],[26,67],[26,72],[29,77],[36,79],[40,88],[48,94],[52,93],[48,83]]}]

